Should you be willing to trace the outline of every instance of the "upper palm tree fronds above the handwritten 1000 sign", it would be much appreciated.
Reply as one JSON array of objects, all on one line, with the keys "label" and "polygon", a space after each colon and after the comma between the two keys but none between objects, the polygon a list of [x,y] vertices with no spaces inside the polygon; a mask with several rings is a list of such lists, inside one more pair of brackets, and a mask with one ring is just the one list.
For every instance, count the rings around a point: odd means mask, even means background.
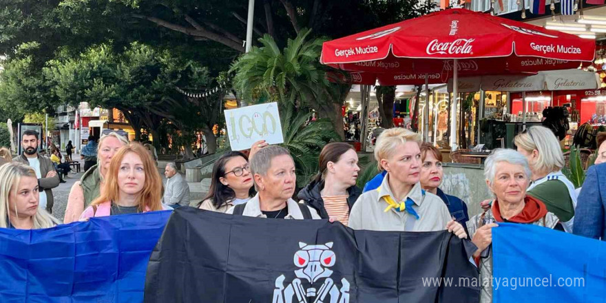
[{"label": "upper palm tree fronds above the handwritten 1000 sign", "polygon": [[236,72],[233,85],[244,100],[252,102],[262,96],[269,101],[311,107],[320,118],[329,118],[334,129],[344,138],[341,106],[351,85],[330,83],[328,67],[319,62],[325,39],[308,40],[309,30],[301,30],[281,50],[273,38],[265,34],[261,47],[253,47],[231,65]]}]

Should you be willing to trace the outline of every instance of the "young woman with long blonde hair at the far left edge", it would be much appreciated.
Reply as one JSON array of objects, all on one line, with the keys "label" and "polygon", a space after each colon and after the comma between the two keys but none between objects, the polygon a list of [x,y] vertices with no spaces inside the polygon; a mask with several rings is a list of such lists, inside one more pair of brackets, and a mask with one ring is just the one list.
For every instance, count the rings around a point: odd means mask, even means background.
[{"label": "young woman with long blonde hair at the far left edge", "polygon": [[0,167],[0,227],[9,229],[45,229],[59,224],[39,206],[36,172],[21,163]]}]

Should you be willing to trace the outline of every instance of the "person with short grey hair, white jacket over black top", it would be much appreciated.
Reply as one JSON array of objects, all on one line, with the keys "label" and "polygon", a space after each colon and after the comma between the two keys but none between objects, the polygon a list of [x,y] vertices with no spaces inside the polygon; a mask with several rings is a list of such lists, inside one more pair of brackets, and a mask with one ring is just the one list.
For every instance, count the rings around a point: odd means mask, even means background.
[{"label": "person with short grey hair, white jacket over black top", "polygon": [[272,219],[320,219],[314,209],[291,198],[297,176],[295,162],[284,147],[273,145],[260,149],[251,158],[250,167],[258,194],[248,202],[231,207],[227,213]]}]

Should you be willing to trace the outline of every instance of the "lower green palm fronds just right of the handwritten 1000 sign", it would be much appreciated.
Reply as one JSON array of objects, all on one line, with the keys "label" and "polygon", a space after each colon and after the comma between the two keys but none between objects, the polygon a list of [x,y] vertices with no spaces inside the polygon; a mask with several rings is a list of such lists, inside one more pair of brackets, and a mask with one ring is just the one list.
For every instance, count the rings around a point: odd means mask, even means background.
[{"label": "lower green palm fronds just right of the handwritten 1000 sign", "polygon": [[282,108],[282,146],[289,149],[297,169],[297,187],[304,187],[317,174],[318,159],[322,147],[333,140],[339,140],[330,121],[318,119],[307,123],[311,112],[294,106]]}]

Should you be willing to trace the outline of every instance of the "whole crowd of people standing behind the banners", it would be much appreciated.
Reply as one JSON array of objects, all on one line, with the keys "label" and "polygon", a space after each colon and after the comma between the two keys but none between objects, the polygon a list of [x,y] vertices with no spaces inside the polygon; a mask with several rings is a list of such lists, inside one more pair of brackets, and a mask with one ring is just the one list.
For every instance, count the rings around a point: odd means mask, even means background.
[{"label": "whole crowd of people standing behind the banners", "polygon": [[[12,161],[10,151],[0,149],[0,218],[6,218],[0,227],[41,229],[61,223],[51,214],[52,189],[61,180],[53,162],[60,153],[41,156],[38,140],[36,132],[25,131],[23,154]],[[501,222],[605,239],[606,134],[598,136],[596,165],[587,171],[580,194],[562,173],[565,160],[550,129],[530,127],[514,143],[516,149],[495,149],[485,160],[485,182],[494,198],[480,202],[483,212],[474,216],[466,202],[439,188],[441,152],[400,127],[386,129],[377,139],[380,172],[363,190],[356,186],[357,153],[347,143],[324,146],[317,176],[295,196],[293,157],[284,147],[259,141],[249,151],[229,151],[216,160],[209,193],[197,206],[235,216],[326,219],[351,229],[448,230],[476,245],[473,257],[481,278],[492,277],[492,229]],[[189,186],[176,165],[165,168],[163,185],[149,147],[129,143],[116,131],[104,132],[89,145],[87,152],[96,149],[95,163],[72,186],[63,223],[189,205]],[[481,289],[481,302],[492,302],[490,285]]]}]

